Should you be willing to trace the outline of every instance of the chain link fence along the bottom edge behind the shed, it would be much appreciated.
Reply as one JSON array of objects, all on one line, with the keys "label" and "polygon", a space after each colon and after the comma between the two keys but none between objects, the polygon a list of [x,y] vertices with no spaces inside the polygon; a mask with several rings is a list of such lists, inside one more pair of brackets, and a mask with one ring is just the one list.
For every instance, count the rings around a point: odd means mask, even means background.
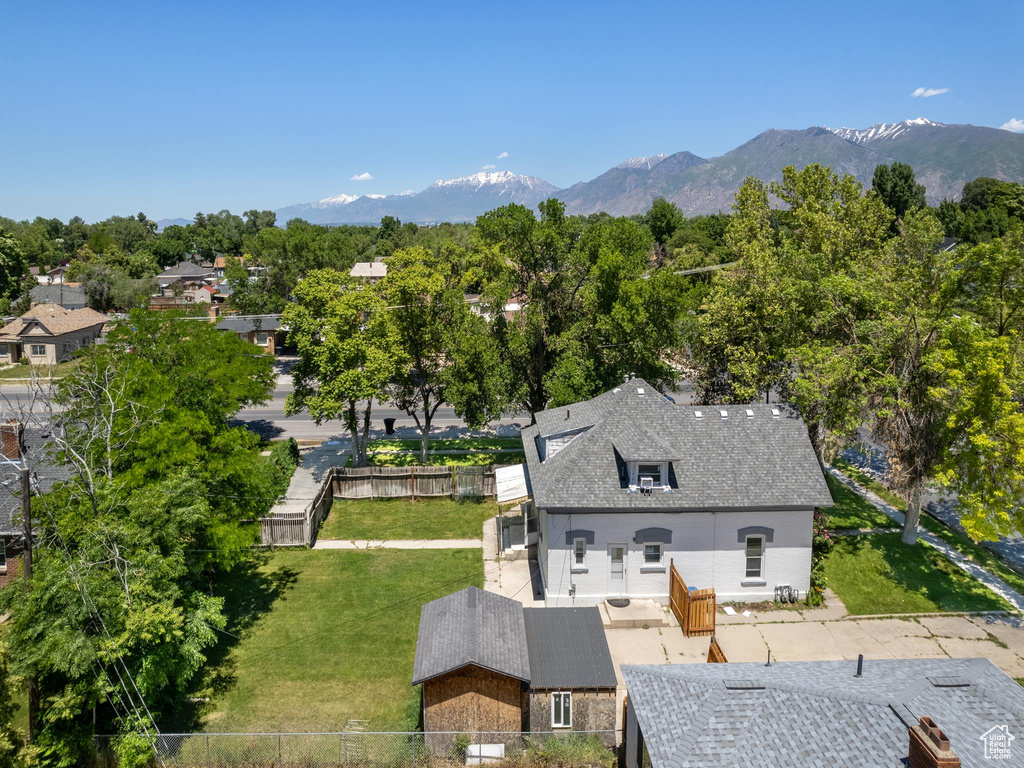
[{"label": "chain link fence along the bottom edge behind the shed", "polygon": [[[164,733],[154,765],[178,768],[613,768],[618,731],[532,733]],[[101,768],[117,768],[97,737]]]}]

